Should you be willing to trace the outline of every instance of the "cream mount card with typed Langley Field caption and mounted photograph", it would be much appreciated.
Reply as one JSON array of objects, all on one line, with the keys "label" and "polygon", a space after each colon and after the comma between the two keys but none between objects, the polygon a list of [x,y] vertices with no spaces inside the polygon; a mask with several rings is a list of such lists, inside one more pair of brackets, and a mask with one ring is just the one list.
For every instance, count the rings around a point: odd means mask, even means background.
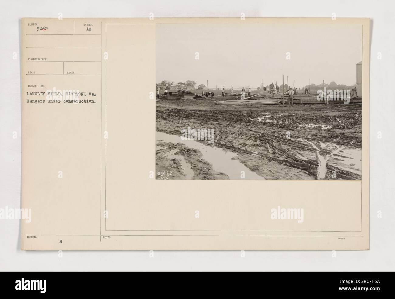
[{"label": "cream mount card with typed Langley Field caption and mounted photograph", "polygon": [[369,19],[21,30],[21,249],[369,249]]}]

